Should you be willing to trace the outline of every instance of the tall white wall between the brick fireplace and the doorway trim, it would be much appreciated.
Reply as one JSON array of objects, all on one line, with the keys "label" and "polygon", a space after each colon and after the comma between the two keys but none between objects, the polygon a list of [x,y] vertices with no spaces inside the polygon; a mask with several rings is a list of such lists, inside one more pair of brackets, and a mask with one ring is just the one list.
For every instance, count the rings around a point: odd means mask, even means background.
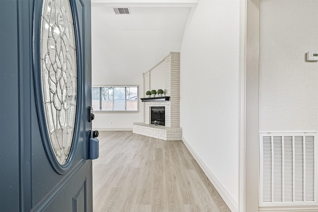
[{"label": "tall white wall between the brick fireplace and the doorway trim", "polygon": [[[239,1],[199,0],[180,56],[180,126],[184,141],[239,202]],[[226,168],[225,168],[226,167]]]}]

